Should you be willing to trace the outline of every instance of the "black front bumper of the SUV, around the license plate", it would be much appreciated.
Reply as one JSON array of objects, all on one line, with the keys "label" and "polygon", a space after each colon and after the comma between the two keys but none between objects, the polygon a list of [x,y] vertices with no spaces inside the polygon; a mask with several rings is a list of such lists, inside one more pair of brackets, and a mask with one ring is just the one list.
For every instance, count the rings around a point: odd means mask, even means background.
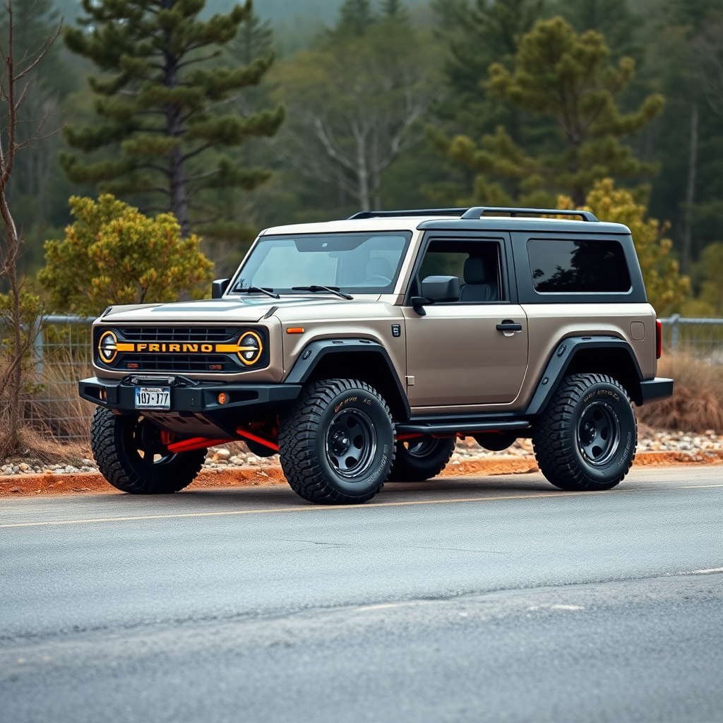
[{"label": "black front bumper of the SUV, around the license plate", "polygon": [[[144,380],[145,385],[163,385],[163,382]],[[139,382],[139,386],[142,383]],[[78,382],[83,399],[117,411],[135,411],[135,388],[125,380],[91,377]],[[218,395],[226,395],[226,403],[218,403]],[[188,382],[176,380],[171,384],[171,409],[174,412],[204,414],[252,406],[283,406],[293,402],[301,392],[300,384],[226,384],[224,382]]]}]

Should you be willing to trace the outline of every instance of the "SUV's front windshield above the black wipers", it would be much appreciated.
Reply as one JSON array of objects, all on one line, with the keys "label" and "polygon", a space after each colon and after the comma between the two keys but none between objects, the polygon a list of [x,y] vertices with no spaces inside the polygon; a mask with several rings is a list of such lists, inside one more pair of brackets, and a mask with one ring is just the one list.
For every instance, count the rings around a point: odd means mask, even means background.
[{"label": "SUV's front windshield above the black wipers", "polygon": [[291,293],[295,286],[389,293],[409,241],[410,231],[262,236],[236,275],[231,293],[252,286],[281,294]]}]

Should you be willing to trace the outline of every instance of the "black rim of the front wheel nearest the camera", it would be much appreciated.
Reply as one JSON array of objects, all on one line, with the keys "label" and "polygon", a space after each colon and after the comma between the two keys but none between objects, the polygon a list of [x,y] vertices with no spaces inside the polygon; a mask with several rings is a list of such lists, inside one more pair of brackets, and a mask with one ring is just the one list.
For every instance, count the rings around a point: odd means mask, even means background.
[{"label": "black rim of the front wheel nearest the camera", "polygon": [[354,408],[335,414],[326,435],[326,458],[338,475],[347,479],[363,475],[376,451],[377,432],[367,414]]}]

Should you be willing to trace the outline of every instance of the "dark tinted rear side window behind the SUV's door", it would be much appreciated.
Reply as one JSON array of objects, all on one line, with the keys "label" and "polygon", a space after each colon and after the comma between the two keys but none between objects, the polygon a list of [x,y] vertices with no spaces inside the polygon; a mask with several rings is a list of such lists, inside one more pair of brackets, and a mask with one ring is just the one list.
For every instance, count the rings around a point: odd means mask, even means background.
[{"label": "dark tinted rear side window behind the SUV's door", "polygon": [[535,290],[552,294],[625,293],[630,274],[617,241],[527,242]]}]

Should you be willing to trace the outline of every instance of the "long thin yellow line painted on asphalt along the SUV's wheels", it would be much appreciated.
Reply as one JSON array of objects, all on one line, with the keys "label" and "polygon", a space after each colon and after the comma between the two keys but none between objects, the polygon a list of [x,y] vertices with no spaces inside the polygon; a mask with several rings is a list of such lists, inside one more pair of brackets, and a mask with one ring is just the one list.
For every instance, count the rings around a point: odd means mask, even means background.
[{"label": "long thin yellow line painted on asphalt along the SUV's wheels", "polygon": [[[701,489],[702,487],[723,487],[723,484],[685,484],[682,487],[667,489]],[[658,492],[661,487],[643,487],[641,489],[605,489],[588,492],[544,492],[536,495],[504,495],[499,497],[453,497],[448,500],[406,500],[405,502],[373,502],[371,505],[315,505],[314,507],[279,507],[265,510],[225,510],[223,512],[187,512],[173,515],[136,515],[133,517],[97,517],[85,520],[51,520],[47,522],[17,522],[0,525],[0,529],[9,527],[48,527],[54,525],[80,525],[95,522],[134,522],[140,520],[171,520],[187,517],[225,517],[228,515],[262,515],[277,512],[324,512],[329,510],[374,510],[378,507],[408,507],[410,505],[444,505],[451,502],[495,502],[495,500],[533,500],[547,498],[557,500],[560,497],[582,497],[584,495],[620,495],[622,492]]]}]

